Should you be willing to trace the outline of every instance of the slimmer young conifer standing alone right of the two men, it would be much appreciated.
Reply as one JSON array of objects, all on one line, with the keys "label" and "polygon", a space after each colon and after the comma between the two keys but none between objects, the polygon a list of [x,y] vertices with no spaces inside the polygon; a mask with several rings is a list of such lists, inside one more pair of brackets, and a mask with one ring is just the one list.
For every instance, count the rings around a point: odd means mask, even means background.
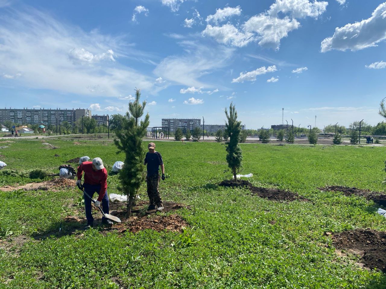
[{"label": "slimmer young conifer standing alone right of the two men", "polygon": [[237,171],[239,171],[242,167],[242,150],[239,146],[241,121],[237,120],[237,111],[233,102],[230,103],[229,113],[228,109],[225,108],[225,116],[228,121],[225,123],[225,128],[229,136],[229,142],[225,143],[227,163],[229,168],[232,170],[234,180],[237,181]]}]

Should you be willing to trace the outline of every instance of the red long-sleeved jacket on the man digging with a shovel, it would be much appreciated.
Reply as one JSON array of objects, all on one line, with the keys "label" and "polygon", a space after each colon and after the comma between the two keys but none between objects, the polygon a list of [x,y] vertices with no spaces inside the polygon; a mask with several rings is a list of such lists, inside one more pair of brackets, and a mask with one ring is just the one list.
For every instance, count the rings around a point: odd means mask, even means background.
[{"label": "red long-sleeved jacket on the man digging with a shovel", "polygon": [[107,190],[107,170],[103,168],[102,170],[94,171],[92,165],[92,161],[85,161],[78,166],[78,180],[82,179],[84,171],[85,181],[83,183],[88,185],[100,185],[98,201],[101,202]]}]

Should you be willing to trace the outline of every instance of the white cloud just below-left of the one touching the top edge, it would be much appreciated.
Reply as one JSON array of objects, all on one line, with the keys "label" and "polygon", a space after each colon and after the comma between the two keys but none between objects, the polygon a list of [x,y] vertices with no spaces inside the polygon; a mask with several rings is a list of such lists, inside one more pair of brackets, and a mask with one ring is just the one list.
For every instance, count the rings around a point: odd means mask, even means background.
[{"label": "white cloud just below-left of the one touching the top edge", "polygon": [[298,29],[300,23],[296,19],[283,19],[259,14],[244,23],[244,30],[259,35],[259,45],[266,48],[279,49],[280,40],[288,36],[288,32]]}]

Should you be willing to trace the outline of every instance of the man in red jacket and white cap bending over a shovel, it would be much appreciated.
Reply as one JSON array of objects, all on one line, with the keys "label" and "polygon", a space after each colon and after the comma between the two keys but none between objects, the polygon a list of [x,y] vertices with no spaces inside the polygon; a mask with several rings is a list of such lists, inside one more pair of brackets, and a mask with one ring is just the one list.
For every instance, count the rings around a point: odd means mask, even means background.
[{"label": "man in red jacket and white cap bending over a shovel", "polygon": [[[83,171],[85,172],[85,181],[83,183],[85,193],[92,198],[94,193],[97,192],[99,196],[94,205],[99,207],[102,202],[102,210],[105,214],[108,214],[107,170],[103,166],[103,161],[100,158],[95,158],[93,161],[85,161],[81,163],[78,166],[78,181],[76,181],[76,185],[82,186]],[[91,198],[87,197],[86,194],[83,194],[83,197],[85,198],[87,218],[86,228],[90,228],[94,225],[94,218],[91,214]],[[102,217],[102,224],[112,226],[113,222],[105,217]]]}]

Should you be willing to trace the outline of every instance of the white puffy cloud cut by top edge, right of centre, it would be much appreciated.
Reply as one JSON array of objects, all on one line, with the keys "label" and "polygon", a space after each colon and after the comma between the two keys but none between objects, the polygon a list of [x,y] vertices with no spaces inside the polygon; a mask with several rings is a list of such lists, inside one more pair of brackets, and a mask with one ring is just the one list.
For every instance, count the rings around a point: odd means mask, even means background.
[{"label": "white puffy cloud cut by top edge, right of centre", "polygon": [[279,12],[289,14],[293,18],[312,17],[318,18],[327,8],[327,1],[317,0],[310,2],[309,0],[276,0],[269,7],[268,14],[277,16]]}]

